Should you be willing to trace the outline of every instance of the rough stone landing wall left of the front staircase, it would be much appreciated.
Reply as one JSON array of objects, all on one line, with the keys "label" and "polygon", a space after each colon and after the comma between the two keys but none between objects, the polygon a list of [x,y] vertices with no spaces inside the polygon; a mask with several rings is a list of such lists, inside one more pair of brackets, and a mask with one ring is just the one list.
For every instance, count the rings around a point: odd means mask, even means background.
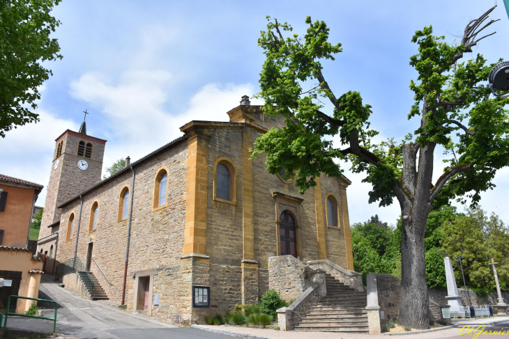
[{"label": "rough stone landing wall left of the front staircase", "polygon": [[280,292],[281,298],[287,301],[301,297],[313,283],[325,281],[325,271],[312,269],[292,255],[268,258],[268,275],[268,287]]}]

